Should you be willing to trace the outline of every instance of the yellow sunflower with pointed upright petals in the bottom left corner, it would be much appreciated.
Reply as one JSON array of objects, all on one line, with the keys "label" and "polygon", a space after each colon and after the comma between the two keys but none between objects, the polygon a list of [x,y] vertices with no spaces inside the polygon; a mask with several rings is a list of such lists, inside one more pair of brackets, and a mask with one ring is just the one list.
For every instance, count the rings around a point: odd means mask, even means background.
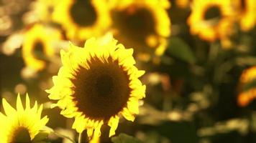
[{"label": "yellow sunflower with pointed upright petals in the bottom left corner", "polygon": [[3,99],[3,107],[6,115],[0,112],[0,142],[1,143],[22,143],[32,142],[45,127],[48,118],[45,116],[41,119],[42,105],[30,108],[29,96],[26,96],[26,108],[22,106],[22,101],[17,97],[17,110]]}]

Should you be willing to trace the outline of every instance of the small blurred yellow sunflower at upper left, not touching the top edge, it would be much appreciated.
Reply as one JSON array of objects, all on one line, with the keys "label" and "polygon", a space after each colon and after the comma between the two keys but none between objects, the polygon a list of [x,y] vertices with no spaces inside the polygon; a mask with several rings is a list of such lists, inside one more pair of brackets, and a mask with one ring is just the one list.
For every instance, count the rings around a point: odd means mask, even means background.
[{"label": "small blurred yellow sunflower at upper left, not touching the top edge", "polygon": [[22,57],[27,66],[35,71],[45,68],[47,58],[54,54],[53,44],[61,39],[56,29],[47,29],[41,24],[35,24],[25,32],[22,44]]}]

